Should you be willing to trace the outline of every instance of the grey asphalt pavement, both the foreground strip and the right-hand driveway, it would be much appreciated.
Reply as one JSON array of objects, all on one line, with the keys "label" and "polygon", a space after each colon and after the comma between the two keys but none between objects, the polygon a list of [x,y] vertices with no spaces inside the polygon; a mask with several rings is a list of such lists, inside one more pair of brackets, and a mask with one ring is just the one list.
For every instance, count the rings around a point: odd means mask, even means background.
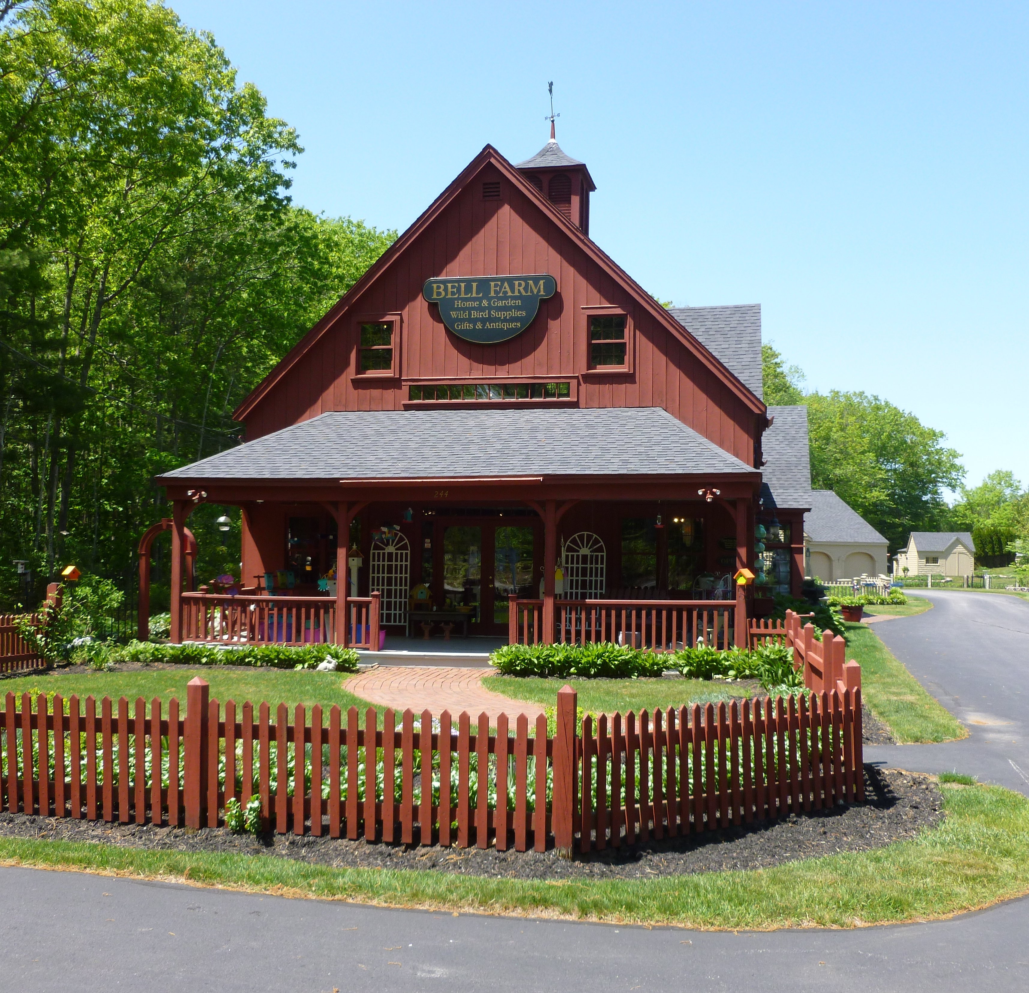
[{"label": "grey asphalt pavement, both the foreground strip and the right-hand driveway", "polygon": [[[971,729],[946,745],[868,748],[1027,790],[1029,603],[931,594],[879,634]],[[0,868],[0,993],[109,991],[1029,989],[1029,900],[852,931],[702,933],[288,900],[78,873]]]}]

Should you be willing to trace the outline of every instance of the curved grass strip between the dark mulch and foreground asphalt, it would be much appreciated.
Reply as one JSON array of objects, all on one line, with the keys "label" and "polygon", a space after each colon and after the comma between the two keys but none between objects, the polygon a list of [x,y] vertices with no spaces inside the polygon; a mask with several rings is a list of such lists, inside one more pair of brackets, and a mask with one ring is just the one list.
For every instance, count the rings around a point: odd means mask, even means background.
[{"label": "curved grass strip between the dark mulch and foreground asphalt", "polygon": [[513,880],[16,839],[0,839],[0,863],[389,907],[707,929],[932,920],[1029,892],[1029,800],[999,786],[946,784],[942,790],[946,819],[912,841],[759,872]]}]

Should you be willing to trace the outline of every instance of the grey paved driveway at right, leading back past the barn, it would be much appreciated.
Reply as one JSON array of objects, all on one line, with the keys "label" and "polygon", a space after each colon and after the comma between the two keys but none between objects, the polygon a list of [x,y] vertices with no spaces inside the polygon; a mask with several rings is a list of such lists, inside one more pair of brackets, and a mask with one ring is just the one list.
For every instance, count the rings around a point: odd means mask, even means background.
[{"label": "grey paved driveway at right, leading back past the barn", "polygon": [[957,770],[1029,793],[1029,601],[919,591],[933,609],[876,634],[969,731],[942,745],[866,746],[865,761],[914,772]]}]

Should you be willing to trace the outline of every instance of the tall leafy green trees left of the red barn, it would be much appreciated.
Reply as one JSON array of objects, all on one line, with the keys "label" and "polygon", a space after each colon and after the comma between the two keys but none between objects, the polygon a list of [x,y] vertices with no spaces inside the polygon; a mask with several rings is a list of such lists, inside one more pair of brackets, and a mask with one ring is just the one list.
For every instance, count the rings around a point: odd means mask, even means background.
[{"label": "tall leafy green trees left of the red barn", "polygon": [[294,207],[300,151],[159,3],[0,4],[0,598],[14,559],[128,574],[151,477],[395,237]]}]

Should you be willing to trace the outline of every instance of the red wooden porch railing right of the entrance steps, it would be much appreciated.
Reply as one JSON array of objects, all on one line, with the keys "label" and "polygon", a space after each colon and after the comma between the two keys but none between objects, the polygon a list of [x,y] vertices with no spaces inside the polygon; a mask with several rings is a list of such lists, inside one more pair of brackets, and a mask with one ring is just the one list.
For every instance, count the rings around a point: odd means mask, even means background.
[{"label": "red wooden porch railing right of the entrance steps", "polygon": [[[543,641],[543,601],[511,599],[511,644]],[[724,650],[735,643],[732,600],[556,600],[554,641],[609,641],[650,651],[675,651],[704,644]]]}]

